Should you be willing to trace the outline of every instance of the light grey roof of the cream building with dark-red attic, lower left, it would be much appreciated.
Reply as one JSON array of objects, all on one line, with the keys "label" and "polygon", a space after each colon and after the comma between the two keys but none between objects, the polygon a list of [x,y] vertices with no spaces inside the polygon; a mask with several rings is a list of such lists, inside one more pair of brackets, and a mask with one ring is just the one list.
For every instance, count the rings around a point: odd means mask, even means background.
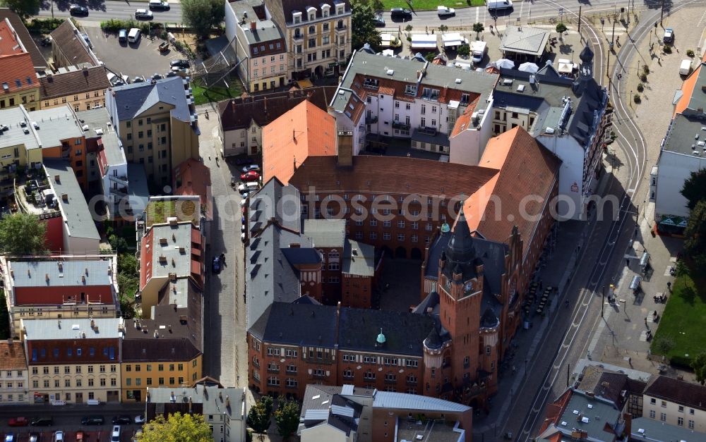
[{"label": "light grey roof of the cream building with dark-red attic, lower left", "polygon": [[96,318],[91,329],[91,319],[23,319],[22,324],[27,331],[28,340],[54,339],[107,339],[119,338],[118,327],[122,318]]}]

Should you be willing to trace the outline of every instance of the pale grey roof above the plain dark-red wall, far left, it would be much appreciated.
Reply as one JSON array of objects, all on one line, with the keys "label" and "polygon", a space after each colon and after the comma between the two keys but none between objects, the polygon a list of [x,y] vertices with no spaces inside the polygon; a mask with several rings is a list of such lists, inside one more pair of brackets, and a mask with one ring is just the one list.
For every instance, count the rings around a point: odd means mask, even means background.
[{"label": "pale grey roof above the plain dark-red wall, far left", "polygon": [[112,270],[111,264],[99,259],[9,261],[8,267],[13,271],[15,287],[111,286],[113,274],[108,272]]}]

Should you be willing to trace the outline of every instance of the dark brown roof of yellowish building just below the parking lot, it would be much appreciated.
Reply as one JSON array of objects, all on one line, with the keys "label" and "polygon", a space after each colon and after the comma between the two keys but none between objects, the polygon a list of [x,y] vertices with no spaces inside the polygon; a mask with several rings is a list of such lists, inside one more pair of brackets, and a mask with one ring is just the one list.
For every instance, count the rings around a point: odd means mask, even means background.
[{"label": "dark brown roof of yellowish building just below the parking lot", "polygon": [[106,90],[110,82],[104,66],[91,66],[71,72],[45,75],[39,79],[40,99],[84,94],[95,90]]}]

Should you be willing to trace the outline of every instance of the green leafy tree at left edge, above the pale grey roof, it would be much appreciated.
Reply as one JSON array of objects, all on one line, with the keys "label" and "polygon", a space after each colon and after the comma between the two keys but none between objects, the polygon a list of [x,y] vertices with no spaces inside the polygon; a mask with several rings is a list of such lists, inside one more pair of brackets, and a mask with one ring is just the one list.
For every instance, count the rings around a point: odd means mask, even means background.
[{"label": "green leafy tree at left edge, above the pale grey roof", "polygon": [[39,254],[47,251],[47,224],[36,215],[17,212],[0,220],[0,251],[7,254]]}]

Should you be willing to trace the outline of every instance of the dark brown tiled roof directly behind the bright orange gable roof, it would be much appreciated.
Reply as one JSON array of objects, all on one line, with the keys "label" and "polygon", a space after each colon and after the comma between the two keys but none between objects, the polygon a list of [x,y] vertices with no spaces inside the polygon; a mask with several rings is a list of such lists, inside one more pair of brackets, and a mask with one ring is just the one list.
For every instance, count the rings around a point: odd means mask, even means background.
[{"label": "dark brown tiled roof directly behind the bright orange gable roof", "polygon": [[335,92],[335,86],[318,86],[306,90],[249,95],[219,102],[218,112],[224,132],[248,128],[252,121],[264,127],[304,100],[325,111]]}]

